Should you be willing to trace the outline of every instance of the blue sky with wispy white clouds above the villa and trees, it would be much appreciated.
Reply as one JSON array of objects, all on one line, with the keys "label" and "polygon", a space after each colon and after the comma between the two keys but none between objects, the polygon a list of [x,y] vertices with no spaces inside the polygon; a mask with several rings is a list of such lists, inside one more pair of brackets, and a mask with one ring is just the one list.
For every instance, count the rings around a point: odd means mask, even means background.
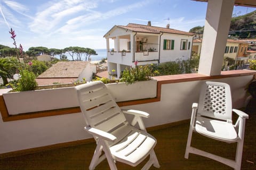
[{"label": "blue sky with wispy white clouds above the villa and trees", "polygon": [[[17,44],[29,47],[69,46],[106,48],[103,35],[114,25],[147,24],[182,31],[204,25],[207,3],[190,0],[0,0],[0,44],[13,47],[9,28]],[[243,15],[256,8],[235,6]],[[169,20],[168,20],[169,18]]]}]

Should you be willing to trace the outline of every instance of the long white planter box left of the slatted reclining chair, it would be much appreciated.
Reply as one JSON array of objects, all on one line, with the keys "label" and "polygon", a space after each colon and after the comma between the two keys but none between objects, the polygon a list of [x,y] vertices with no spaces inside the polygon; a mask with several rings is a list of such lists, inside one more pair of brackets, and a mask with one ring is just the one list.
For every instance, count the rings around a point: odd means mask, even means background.
[{"label": "long white planter box left of the slatted reclining chair", "polygon": [[7,92],[3,97],[9,115],[79,106],[74,87]]}]

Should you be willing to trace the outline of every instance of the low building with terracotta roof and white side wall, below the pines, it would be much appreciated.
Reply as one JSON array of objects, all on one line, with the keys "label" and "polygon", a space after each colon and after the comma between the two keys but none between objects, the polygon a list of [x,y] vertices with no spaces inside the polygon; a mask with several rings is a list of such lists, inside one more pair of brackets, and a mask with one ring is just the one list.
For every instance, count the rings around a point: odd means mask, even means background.
[{"label": "low building with terracotta roof and white side wall, below the pines", "polygon": [[83,78],[86,81],[91,81],[92,74],[95,72],[96,66],[90,62],[58,62],[39,75],[36,81],[38,86],[74,83],[83,81]]}]

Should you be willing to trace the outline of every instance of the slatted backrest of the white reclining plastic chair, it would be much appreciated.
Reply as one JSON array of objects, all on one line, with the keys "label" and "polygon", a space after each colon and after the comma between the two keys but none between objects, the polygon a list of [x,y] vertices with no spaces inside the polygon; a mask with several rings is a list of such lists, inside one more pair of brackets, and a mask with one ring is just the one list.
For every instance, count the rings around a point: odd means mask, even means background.
[{"label": "slatted backrest of the white reclining plastic chair", "polygon": [[126,122],[126,118],[101,81],[76,86],[78,102],[86,125],[109,132]]}]

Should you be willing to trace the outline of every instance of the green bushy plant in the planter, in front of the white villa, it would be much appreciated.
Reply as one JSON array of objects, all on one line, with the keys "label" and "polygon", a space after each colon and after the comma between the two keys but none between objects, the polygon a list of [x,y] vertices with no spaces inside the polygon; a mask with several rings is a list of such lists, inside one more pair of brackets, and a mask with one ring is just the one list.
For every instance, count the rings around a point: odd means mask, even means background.
[{"label": "green bushy plant in the planter, in front of the white villa", "polygon": [[126,67],[122,73],[121,82],[132,84],[135,81],[147,81],[159,74],[157,70],[154,71],[154,64],[138,66],[138,61],[135,61],[134,65],[135,67],[131,66],[129,69]]}]

